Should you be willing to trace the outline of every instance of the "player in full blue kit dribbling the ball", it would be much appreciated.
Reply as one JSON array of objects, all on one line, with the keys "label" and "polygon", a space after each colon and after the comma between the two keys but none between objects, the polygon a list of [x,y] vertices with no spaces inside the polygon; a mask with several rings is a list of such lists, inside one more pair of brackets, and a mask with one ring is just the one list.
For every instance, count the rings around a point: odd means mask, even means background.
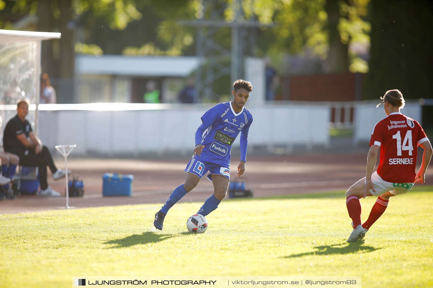
[{"label": "player in full blue kit dribbling the ball", "polygon": [[184,184],[174,189],[161,210],[155,214],[155,228],[162,230],[168,210],[193,190],[207,171],[210,172],[207,179],[212,182],[214,192],[197,214],[206,216],[218,207],[229,187],[230,148],[239,133],[241,158],[236,176],[244,173],[248,130],[252,123],[252,115],[244,106],[251,91],[251,82],[236,80],[233,83],[233,101],[216,104],[201,117],[203,123],[195,133],[194,154],[184,170],[188,174],[187,179]]}]

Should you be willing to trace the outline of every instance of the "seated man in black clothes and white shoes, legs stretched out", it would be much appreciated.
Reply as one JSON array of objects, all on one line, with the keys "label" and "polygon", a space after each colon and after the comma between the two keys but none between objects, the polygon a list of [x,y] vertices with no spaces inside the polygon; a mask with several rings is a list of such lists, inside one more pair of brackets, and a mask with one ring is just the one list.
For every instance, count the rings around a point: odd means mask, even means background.
[{"label": "seated man in black clothes and white shoes, legs stretched out", "polygon": [[32,131],[32,126],[26,120],[29,114],[30,102],[20,99],[16,103],[16,116],[10,119],[3,133],[3,147],[5,152],[19,157],[19,165],[39,167],[39,182],[42,196],[60,196],[47,183],[47,166],[49,166],[55,180],[65,177],[65,171],[54,165],[51,153]]}]

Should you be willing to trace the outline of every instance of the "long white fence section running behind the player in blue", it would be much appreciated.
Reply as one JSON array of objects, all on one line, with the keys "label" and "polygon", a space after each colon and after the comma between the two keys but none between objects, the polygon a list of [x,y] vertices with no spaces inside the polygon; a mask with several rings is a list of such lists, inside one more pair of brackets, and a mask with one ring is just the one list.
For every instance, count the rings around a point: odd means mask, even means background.
[{"label": "long white fence section running behind the player in blue", "polygon": [[[211,107],[203,104],[44,104],[39,105],[39,137],[48,147],[77,144],[75,155],[191,152],[200,117]],[[330,109],[326,106],[283,103],[248,108],[254,119],[249,130],[251,149],[329,143]],[[239,139],[234,146],[239,147]]]}]

